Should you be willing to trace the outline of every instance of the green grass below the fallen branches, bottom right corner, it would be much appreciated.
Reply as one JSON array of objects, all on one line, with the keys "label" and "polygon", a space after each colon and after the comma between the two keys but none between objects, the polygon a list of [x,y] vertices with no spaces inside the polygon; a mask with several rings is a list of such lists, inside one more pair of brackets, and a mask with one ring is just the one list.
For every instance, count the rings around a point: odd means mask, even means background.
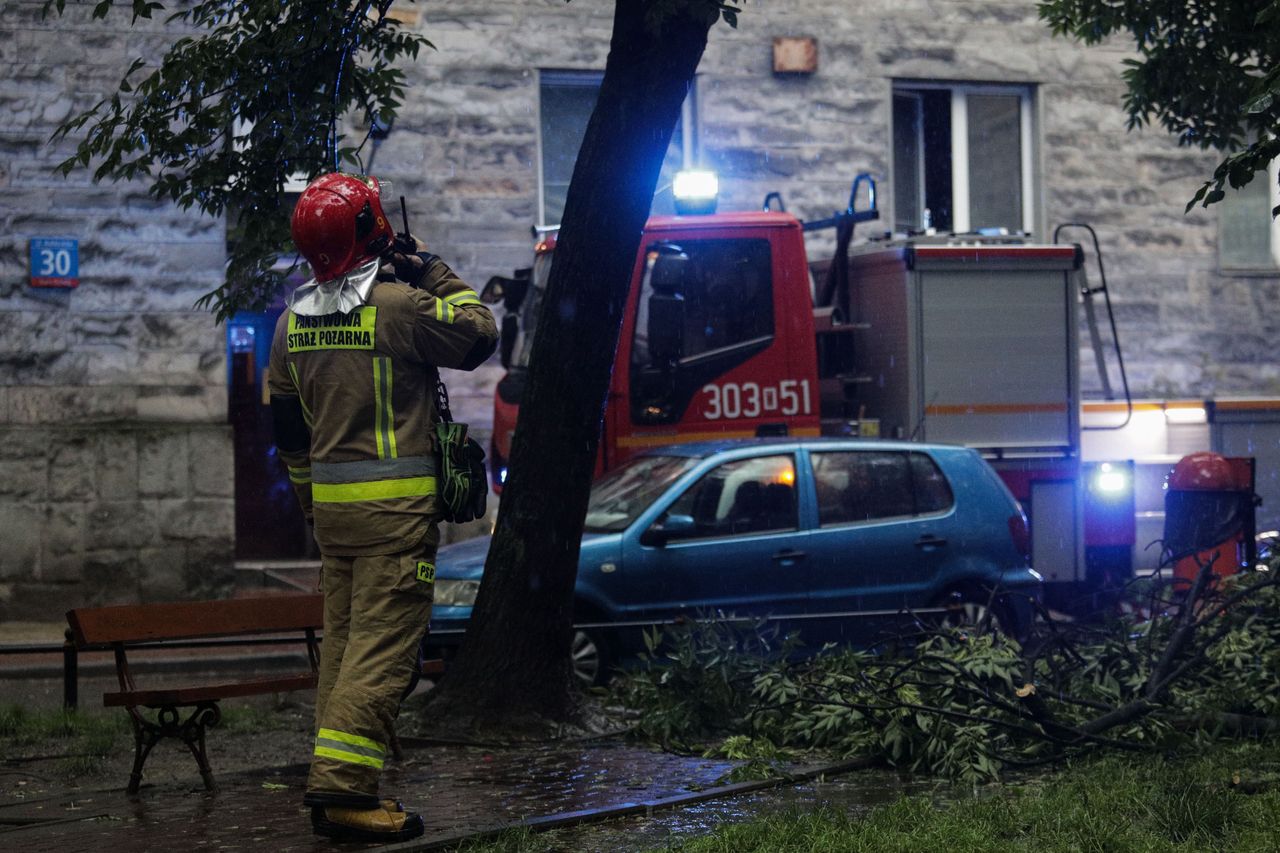
[{"label": "green grass below the fallen branches, bottom right corner", "polygon": [[[1263,853],[1280,849],[1280,744],[1212,744],[1196,757],[1107,757],[978,793],[941,789],[868,812],[764,813],[666,853]],[[563,831],[563,830],[562,830]],[[590,833],[590,830],[575,830]],[[509,830],[467,853],[572,849]],[[580,838],[588,838],[581,836]],[[658,852],[654,852],[658,853]]]}]

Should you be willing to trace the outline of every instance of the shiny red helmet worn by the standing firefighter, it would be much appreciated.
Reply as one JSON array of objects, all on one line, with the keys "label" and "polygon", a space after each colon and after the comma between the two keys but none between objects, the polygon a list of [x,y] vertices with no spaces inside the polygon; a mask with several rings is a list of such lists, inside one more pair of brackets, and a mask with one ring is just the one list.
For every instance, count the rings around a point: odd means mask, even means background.
[{"label": "shiny red helmet worn by the standing firefighter", "polygon": [[317,282],[346,275],[387,250],[394,238],[378,179],[340,172],[307,184],[289,222],[293,245]]}]

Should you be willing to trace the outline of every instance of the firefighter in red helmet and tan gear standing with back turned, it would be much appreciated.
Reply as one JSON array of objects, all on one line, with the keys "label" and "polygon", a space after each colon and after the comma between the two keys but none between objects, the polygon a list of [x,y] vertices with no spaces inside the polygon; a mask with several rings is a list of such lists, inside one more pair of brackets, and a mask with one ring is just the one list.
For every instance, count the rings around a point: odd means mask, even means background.
[{"label": "firefighter in red helmet and tan gear standing with back turned", "polygon": [[291,229],[315,278],[275,327],[268,387],[276,448],[321,555],[303,802],[320,835],[404,840],[422,818],[379,799],[378,780],[431,610],[436,368],[479,366],[497,327],[444,261],[393,233],[375,178],[316,178]]}]

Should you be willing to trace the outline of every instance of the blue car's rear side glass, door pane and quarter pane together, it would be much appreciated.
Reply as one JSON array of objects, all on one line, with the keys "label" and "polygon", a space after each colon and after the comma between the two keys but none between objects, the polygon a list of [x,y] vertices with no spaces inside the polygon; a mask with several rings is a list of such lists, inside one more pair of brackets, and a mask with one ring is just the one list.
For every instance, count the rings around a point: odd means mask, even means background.
[{"label": "blue car's rear side glass, door pane and quarter pane together", "polygon": [[951,487],[924,453],[826,451],[810,455],[818,524],[896,519],[951,507]]}]

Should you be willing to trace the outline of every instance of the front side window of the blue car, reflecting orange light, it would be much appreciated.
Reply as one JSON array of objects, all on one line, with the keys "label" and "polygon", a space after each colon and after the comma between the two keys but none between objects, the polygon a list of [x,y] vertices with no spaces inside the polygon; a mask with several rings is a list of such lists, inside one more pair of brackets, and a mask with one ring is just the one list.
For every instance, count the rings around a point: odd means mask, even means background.
[{"label": "front side window of the blue car, reflecting orange light", "polygon": [[799,526],[795,482],[790,455],[724,462],[681,494],[667,516],[694,520],[681,539],[794,530]]}]

